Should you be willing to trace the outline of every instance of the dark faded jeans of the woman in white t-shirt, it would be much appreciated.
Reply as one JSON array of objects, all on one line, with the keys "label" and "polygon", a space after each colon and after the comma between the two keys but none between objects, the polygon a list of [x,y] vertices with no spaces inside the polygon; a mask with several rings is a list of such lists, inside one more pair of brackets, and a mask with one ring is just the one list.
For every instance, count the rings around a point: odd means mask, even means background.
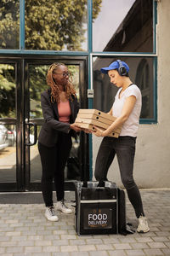
[{"label": "dark faded jeans of the woman in white t-shirt", "polygon": [[136,137],[104,137],[96,158],[94,176],[98,181],[107,180],[107,173],[116,155],[121,172],[122,183],[127,189],[137,218],[144,215],[139,189],[133,179],[133,162],[135,154]]}]

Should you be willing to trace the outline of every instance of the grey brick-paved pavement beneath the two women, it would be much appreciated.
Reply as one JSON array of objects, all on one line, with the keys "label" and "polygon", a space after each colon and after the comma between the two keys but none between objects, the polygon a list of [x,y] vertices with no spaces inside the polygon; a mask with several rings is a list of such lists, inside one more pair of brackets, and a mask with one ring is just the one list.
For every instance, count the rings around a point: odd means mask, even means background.
[{"label": "grey brick-paved pavement beneath the two women", "polygon": [[[68,202],[74,199],[71,198],[70,195],[74,197],[71,193],[65,193]],[[74,214],[59,213],[59,222],[52,223],[44,218],[42,203],[1,203],[0,254],[3,256],[170,256],[170,189],[141,190],[141,195],[150,232],[127,236],[77,236]],[[128,200],[127,221],[136,227],[133,207]]]}]

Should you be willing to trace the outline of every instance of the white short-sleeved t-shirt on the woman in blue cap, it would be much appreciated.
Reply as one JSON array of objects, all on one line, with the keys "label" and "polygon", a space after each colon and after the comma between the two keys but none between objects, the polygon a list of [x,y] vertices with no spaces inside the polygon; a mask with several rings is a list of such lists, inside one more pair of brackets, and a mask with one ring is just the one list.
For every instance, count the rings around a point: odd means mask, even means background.
[{"label": "white short-sleeved t-shirt on the woman in blue cap", "polygon": [[140,116],[140,111],[142,107],[141,92],[137,85],[132,84],[122,92],[122,96],[121,98],[119,98],[119,93],[121,90],[122,88],[120,88],[116,93],[115,102],[113,103],[113,107],[112,107],[112,114],[115,117],[119,117],[122,113],[122,108],[127,97],[135,96],[136,102],[134,104],[133,111],[132,113],[130,113],[127,121],[125,121],[124,124],[122,125],[122,131],[120,133],[120,136],[137,137],[138,127],[139,127],[139,116]]}]

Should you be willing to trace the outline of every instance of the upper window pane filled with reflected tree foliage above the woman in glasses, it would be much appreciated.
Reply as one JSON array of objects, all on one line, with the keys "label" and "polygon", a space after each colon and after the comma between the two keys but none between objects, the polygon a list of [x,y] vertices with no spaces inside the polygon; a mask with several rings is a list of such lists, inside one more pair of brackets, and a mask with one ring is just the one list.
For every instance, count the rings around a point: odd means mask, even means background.
[{"label": "upper window pane filled with reflected tree foliage above the woman in glasses", "polygon": [[26,0],[26,49],[87,50],[87,0]]}]

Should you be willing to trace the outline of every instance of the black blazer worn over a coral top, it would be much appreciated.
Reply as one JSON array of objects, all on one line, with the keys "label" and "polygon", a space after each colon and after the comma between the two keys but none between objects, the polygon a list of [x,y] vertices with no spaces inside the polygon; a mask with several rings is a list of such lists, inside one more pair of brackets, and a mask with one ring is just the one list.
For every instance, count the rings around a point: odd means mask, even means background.
[{"label": "black blazer worn over a coral top", "polygon": [[[72,100],[72,102],[69,100],[71,106],[71,124],[75,122],[79,110],[77,97],[72,96]],[[59,121],[57,102],[51,102],[50,89],[42,92],[41,103],[44,123],[38,137],[39,143],[47,147],[54,147],[59,137],[59,131],[70,133],[72,137],[77,137],[77,132],[70,129],[70,124]]]}]

